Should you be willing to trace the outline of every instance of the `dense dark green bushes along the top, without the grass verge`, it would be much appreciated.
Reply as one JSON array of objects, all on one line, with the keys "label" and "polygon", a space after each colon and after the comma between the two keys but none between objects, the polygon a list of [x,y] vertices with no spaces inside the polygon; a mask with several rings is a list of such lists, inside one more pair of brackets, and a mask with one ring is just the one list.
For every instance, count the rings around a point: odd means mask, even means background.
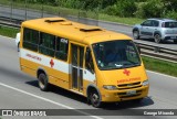
[{"label": "dense dark green bushes along the top, without the grass verge", "polygon": [[27,2],[90,11],[100,10],[101,13],[124,18],[177,18],[176,0],[27,0]]}]

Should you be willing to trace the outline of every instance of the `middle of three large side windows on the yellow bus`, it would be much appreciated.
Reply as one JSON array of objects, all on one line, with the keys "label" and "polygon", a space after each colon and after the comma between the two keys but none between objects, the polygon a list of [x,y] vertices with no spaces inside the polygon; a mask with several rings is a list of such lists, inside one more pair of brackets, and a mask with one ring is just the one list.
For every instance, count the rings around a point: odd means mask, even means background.
[{"label": "middle of three large side windows on the yellow bus", "polygon": [[54,57],[55,36],[48,33],[40,33],[40,48],[39,52]]}]

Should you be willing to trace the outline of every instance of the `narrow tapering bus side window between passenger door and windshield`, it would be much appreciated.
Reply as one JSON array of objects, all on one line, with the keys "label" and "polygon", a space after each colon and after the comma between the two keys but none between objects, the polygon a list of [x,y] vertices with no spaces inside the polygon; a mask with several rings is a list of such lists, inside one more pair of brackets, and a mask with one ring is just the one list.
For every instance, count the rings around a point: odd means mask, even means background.
[{"label": "narrow tapering bus side window between passenger door and windshield", "polygon": [[91,55],[91,48],[88,47],[86,47],[85,68],[88,69],[92,74],[94,74],[93,58]]}]

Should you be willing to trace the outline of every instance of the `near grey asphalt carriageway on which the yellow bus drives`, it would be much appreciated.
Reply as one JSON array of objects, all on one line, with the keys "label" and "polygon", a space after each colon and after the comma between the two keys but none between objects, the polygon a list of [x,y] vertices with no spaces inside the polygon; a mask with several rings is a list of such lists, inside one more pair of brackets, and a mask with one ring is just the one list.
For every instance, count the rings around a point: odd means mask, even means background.
[{"label": "near grey asphalt carriageway on which the yellow bus drives", "polygon": [[[177,109],[177,78],[147,71],[150,89],[149,95],[140,104],[132,101],[121,104],[105,104],[98,111],[101,116],[60,116],[60,118],[96,118],[107,119],[126,112],[138,112],[136,109]],[[52,87],[48,93],[38,88],[34,77],[23,74],[19,68],[19,57],[14,40],[0,36],[0,109],[95,109],[86,104],[86,99],[64,89]],[[177,110],[176,110],[177,111]],[[79,111],[92,115],[87,110]],[[70,115],[70,113],[69,113]],[[6,119],[8,117],[2,117]],[[17,117],[15,117],[17,118]],[[20,118],[20,117],[18,117]],[[35,118],[35,117],[33,117]],[[43,117],[44,118],[44,117]],[[59,118],[59,117],[50,117]],[[176,119],[177,116],[137,117],[118,116],[118,119]],[[49,119],[49,117],[46,117]]]}]

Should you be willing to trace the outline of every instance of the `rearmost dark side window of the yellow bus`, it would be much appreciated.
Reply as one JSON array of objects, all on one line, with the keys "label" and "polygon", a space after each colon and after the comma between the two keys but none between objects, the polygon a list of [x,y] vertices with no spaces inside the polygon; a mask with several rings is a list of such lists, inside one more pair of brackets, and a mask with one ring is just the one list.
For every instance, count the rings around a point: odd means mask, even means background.
[{"label": "rearmost dark side window of the yellow bus", "polygon": [[39,43],[39,32],[35,30],[24,28],[23,47],[37,52],[38,43]]}]

